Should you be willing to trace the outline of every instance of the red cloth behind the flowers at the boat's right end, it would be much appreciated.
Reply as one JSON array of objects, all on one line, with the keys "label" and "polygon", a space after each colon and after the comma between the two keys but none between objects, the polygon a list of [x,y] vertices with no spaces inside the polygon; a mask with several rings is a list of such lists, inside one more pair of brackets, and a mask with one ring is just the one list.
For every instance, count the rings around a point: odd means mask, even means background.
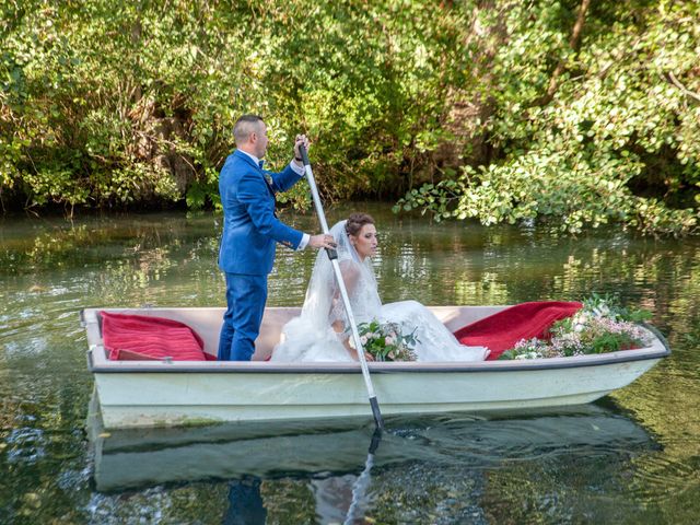
[{"label": "red cloth behind the flowers at the boat's right end", "polygon": [[545,338],[555,322],[571,317],[582,306],[561,301],[521,303],[459,328],[455,337],[462,345],[489,348],[487,360],[493,361],[521,339]]}]

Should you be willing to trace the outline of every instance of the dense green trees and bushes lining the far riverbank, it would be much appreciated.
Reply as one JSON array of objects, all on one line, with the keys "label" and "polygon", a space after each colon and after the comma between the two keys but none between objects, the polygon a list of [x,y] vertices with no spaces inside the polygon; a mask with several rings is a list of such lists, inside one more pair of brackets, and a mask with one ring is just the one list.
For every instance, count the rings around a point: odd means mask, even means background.
[{"label": "dense green trees and bushes lining the far riverbank", "polygon": [[[698,229],[700,4],[3,2],[0,203],[218,206],[242,113],[326,198],[439,220]],[[308,203],[304,185],[282,198]]]}]

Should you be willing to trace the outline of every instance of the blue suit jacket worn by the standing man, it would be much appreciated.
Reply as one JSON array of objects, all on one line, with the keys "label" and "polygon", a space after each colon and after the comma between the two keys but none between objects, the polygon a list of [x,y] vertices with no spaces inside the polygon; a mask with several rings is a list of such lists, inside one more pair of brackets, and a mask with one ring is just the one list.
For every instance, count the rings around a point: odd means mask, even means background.
[{"label": "blue suit jacket worn by the standing man", "polygon": [[275,194],[291,188],[301,178],[288,165],[270,173],[235,150],[219,175],[223,206],[223,234],[219,267],[226,273],[266,276],[272,271],[275,243],[296,249],[303,233],[275,215]]}]

